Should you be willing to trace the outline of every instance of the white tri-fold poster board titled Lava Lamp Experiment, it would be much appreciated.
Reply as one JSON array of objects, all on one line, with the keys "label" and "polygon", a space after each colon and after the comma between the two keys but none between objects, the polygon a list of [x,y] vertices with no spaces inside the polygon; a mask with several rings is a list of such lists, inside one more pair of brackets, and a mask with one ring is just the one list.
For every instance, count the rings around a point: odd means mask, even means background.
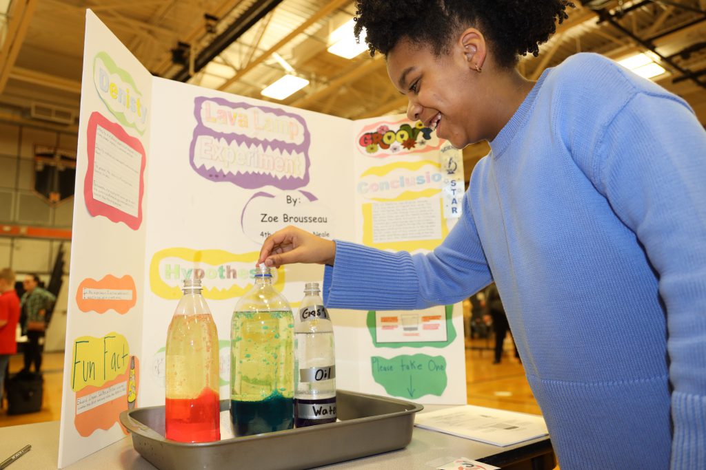
[{"label": "white tri-fold poster board titled Lava Lamp Experiment", "polygon": [[[429,252],[461,211],[462,155],[404,116],[347,120],[150,75],[87,11],[59,466],[127,434],[119,414],[164,403],[164,342],[198,277],[220,338],[270,233]],[[323,268],[275,286],[297,309]],[[465,404],[460,305],[330,312],[337,387]]]}]

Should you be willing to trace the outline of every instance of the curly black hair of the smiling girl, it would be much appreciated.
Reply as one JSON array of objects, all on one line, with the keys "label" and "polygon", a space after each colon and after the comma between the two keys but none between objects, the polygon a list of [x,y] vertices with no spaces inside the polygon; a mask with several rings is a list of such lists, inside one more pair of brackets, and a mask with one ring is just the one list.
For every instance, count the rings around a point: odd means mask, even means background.
[{"label": "curly black hair of the smiling girl", "polygon": [[568,0],[356,0],[357,38],[366,29],[370,55],[387,56],[400,39],[429,44],[434,54],[448,51],[455,34],[477,27],[498,65],[511,68],[519,56],[539,54],[539,44],[568,18]]}]

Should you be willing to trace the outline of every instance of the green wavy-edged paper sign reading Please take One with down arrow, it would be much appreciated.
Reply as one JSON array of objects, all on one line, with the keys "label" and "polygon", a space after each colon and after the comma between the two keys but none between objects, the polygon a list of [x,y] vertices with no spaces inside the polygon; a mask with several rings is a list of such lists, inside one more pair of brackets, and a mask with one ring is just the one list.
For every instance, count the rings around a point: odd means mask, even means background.
[{"label": "green wavy-edged paper sign reading Please take One with down arrow", "polygon": [[416,400],[424,395],[440,397],[446,390],[446,359],[428,354],[405,354],[390,359],[371,357],[373,380],[394,397]]}]

